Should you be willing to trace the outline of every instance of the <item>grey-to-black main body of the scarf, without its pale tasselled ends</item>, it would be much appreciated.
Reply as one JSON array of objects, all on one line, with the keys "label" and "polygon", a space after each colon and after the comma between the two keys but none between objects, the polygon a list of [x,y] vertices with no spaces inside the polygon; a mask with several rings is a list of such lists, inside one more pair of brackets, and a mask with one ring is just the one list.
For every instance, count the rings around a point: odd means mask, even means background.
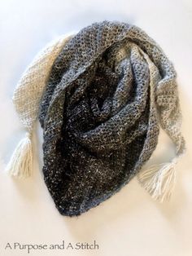
[{"label": "grey-to-black main body of the scarf, without its pale tasselled ends", "polygon": [[157,84],[164,54],[141,29],[120,22],[82,29],[52,67],[39,120],[44,179],[60,214],[79,215],[107,200],[156,147],[155,88],[139,49],[159,68]]}]

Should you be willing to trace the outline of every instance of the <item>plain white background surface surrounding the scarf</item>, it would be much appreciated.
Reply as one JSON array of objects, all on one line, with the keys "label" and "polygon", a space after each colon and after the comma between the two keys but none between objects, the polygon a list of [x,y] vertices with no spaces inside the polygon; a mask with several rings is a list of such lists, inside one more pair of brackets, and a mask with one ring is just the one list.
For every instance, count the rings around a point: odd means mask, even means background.
[{"label": "plain white background surface surrounding the scarf", "polygon": [[[15,145],[24,136],[11,96],[24,69],[47,42],[98,20],[136,24],[172,60],[177,69],[182,130],[188,151],[177,166],[177,184],[170,202],[153,201],[133,179],[97,208],[78,218],[67,218],[56,210],[43,182],[39,127],[33,177],[20,181],[3,172]],[[63,240],[96,240],[99,249],[95,251],[46,250],[29,255],[191,256],[191,68],[190,0],[0,0],[0,255],[27,255],[24,250],[5,250],[7,242],[58,244]],[[162,133],[152,161],[168,160],[172,154],[172,144]]]}]

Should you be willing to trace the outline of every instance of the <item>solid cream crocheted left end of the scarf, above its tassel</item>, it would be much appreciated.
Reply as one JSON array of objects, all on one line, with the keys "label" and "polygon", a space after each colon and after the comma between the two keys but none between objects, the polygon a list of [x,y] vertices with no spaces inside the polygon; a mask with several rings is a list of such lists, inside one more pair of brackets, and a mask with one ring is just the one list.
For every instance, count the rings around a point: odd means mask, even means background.
[{"label": "solid cream crocheted left end of the scarf, above its tassel", "polygon": [[13,104],[20,117],[20,121],[28,132],[33,130],[34,121],[37,119],[41,95],[46,86],[50,68],[57,55],[59,55],[59,51],[61,51],[64,44],[71,37],[62,36],[50,42],[41,50],[33,62],[26,68],[15,88]]}]

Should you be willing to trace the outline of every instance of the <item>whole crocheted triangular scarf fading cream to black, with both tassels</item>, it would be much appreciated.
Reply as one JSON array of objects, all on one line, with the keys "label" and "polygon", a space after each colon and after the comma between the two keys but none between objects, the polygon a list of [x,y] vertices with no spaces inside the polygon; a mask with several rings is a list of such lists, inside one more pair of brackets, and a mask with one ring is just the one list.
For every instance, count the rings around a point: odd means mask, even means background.
[{"label": "whole crocheted triangular scarf fading cream to black, with both tassels", "polygon": [[[13,101],[28,133],[7,166],[27,177],[32,135],[43,129],[43,175],[60,214],[99,205],[135,175],[159,201],[171,195],[185,150],[176,72],[164,52],[135,25],[103,21],[52,42],[17,85]],[[161,126],[176,146],[168,163],[142,168]]]}]

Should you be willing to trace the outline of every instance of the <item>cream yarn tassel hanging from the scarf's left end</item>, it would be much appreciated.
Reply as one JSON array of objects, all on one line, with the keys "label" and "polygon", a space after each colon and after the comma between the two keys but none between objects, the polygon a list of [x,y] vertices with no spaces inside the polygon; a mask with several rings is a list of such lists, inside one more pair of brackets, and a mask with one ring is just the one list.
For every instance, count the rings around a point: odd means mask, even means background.
[{"label": "cream yarn tassel hanging from the scarf's left end", "polygon": [[6,171],[11,176],[27,178],[31,176],[33,170],[33,148],[31,134],[27,133],[24,139],[15,148],[9,161]]}]

